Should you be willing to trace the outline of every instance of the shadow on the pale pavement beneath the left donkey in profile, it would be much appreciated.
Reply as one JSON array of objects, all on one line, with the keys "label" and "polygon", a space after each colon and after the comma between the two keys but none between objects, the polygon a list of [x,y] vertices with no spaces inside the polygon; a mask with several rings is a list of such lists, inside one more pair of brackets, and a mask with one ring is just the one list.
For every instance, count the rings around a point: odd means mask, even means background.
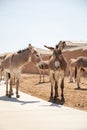
[{"label": "shadow on the pale pavement beneath the left donkey in profile", "polygon": [[0,100],[1,101],[7,101],[7,102],[17,102],[17,103],[20,103],[21,105],[24,105],[24,104],[27,104],[27,103],[38,103],[40,101],[21,101],[21,100],[18,100],[17,98],[8,98],[7,96],[2,96],[0,97]]}]

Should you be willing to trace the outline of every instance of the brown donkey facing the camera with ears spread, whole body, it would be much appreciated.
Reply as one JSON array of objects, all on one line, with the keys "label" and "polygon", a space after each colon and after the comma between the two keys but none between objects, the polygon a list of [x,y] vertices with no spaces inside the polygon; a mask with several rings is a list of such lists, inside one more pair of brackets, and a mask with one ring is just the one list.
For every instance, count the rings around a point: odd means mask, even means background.
[{"label": "brown donkey facing the camera with ears spread, whole body", "polygon": [[62,55],[62,49],[66,46],[65,41],[60,41],[56,48],[48,47],[51,49],[53,54],[49,60],[49,69],[50,69],[50,80],[51,80],[51,95],[53,98],[53,88],[55,90],[54,99],[58,97],[58,85],[59,79],[61,79],[60,87],[61,87],[61,102],[64,102],[64,75],[67,68],[67,62]]}]

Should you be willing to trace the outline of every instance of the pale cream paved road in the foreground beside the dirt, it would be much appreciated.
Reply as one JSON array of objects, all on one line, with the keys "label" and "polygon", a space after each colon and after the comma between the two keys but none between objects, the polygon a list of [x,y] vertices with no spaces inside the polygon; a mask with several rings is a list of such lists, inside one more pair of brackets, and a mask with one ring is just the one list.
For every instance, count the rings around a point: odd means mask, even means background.
[{"label": "pale cream paved road in the foreground beside the dirt", "polygon": [[[15,90],[14,90],[15,91]],[[8,98],[0,85],[0,130],[87,130],[87,112],[20,92]]]}]

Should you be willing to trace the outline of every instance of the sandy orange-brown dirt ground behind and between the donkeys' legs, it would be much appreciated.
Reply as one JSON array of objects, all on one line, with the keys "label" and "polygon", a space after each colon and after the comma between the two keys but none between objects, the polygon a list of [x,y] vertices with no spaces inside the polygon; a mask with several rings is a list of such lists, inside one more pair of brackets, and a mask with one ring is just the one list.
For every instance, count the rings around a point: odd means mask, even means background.
[{"label": "sandy orange-brown dirt ground behind and between the donkeys' legs", "polygon": [[[69,83],[69,77],[65,77],[64,106],[87,111],[87,77],[81,77],[81,89],[76,89],[76,83]],[[45,76],[45,83],[39,83],[39,74],[22,74],[19,89],[27,94],[42,98],[46,101],[50,99],[49,76]],[[21,96],[21,95],[20,95]],[[60,103],[59,97],[55,103]]]}]

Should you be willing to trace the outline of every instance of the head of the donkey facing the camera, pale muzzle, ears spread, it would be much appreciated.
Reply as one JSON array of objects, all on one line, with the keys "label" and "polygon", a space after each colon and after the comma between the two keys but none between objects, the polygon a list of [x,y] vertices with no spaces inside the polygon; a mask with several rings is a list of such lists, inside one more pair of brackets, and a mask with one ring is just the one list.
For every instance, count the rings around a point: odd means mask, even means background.
[{"label": "head of the donkey facing the camera, pale muzzle, ears spread", "polygon": [[64,58],[62,55],[62,50],[65,47],[66,43],[64,41],[60,41],[55,48],[48,47],[45,45],[46,48],[53,51],[51,59],[50,59],[50,67],[52,69],[63,68]]}]

